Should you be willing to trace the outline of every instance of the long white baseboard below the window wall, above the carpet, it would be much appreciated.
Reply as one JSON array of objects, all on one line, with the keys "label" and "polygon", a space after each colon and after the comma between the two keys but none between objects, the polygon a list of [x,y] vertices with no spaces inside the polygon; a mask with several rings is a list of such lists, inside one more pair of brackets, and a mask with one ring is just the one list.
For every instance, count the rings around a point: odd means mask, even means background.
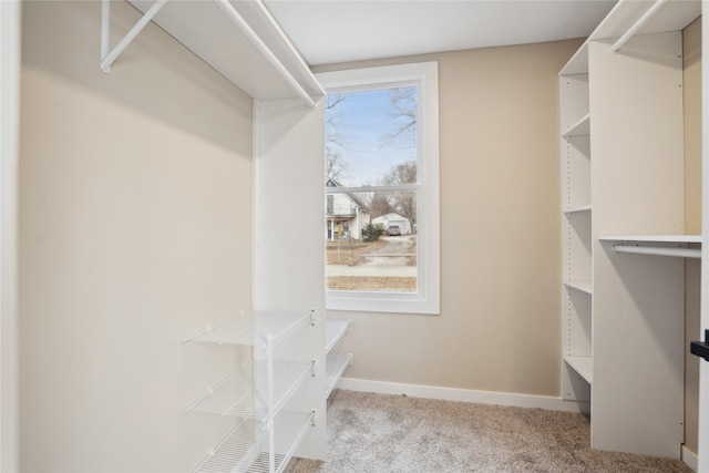
[{"label": "long white baseboard below the window wall, above the carpet", "polygon": [[338,388],[349,391],[376,392],[379,394],[405,394],[412,398],[439,399],[443,401],[473,402],[477,404],[514,405],[538,408],[551,411],[589,412],[588,402],[565,401],[546,395],[513,394],[507,392],[475,391],[469,389],[440,388],[435,385],[403,384],[342,378]]}]

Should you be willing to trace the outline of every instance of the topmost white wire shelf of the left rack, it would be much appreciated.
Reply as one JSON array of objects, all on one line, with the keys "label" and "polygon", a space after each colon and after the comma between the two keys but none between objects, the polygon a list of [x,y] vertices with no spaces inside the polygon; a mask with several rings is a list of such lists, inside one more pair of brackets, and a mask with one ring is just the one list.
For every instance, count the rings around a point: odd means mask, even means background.
[{"label": "topmost white wire shelf of the left rack", "polygon": [[219,345],[264,346],[267,340],[278,345],[296,330],[315,326],[315,311],[250,311],[243,316],[225,320],[216,326],[207,326],[203,331],[183,339]]}]

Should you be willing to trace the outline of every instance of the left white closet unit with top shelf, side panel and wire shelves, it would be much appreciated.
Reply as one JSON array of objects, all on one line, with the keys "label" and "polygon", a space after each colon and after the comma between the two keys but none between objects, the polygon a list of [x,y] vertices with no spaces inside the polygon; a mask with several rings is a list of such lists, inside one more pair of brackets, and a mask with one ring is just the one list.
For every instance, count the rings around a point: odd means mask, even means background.
[{"label": "left white closet unit with top shelf, side panel and wire shelves", "polygon": [[[152,21],[254,99],[256,311],[185,340],[251,346],[254,361],[189,407],[244,419],[198,471],[275,472],[292,454],[325,460],[325,261],[311,256],[325,258],[318,233],[325,91],[261,0],[127,1],[143,17],[129,31],[117,31],[111,0],[102,0],[104,72],[120,73],[121,56],[130,58],[133,40]],[[114,37],[122,39],[116,42]],[[311,191],[298,199],[284,197],[292,182]],[[274,235],[275,226],[302,230],[284,241]],[[300,331],[310,316],[296,317],[292,307],[314,309],[312,330]],[[299,337],[291,337],[295,332]],[[289,359],[288,353],[310,356]]]}]

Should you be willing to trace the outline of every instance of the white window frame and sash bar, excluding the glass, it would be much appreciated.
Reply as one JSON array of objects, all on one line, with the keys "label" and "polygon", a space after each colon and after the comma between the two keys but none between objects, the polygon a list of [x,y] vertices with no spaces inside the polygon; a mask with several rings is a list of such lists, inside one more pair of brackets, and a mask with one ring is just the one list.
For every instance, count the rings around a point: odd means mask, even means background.
[{"label": "white window frame and sash bar, excluding the glass", "polygon": [[[326,290],[328,310],[439,315],[441,305],[439,216],[438,62],[322,72],[316,74],[328,94],[418,86],[418,183],[405,186],[338,187],[337,192],[418,191],[418,291]],[[332,193],[326,188],[326,193]]]}]

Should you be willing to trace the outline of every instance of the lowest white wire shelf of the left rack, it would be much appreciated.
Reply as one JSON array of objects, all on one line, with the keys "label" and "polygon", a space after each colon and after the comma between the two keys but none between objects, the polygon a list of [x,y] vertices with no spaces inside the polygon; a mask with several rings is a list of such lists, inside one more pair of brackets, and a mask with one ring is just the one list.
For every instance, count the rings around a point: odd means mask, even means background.
[{"label": "lowest white wire shelf of the left rack", "polygon": [[195,469],[197,473],[282,472],[302,441],[308,426],[314,425],[310,413],[281,412],[274,421],[274,445],[267,445],[266,422],[244,420]]}]

